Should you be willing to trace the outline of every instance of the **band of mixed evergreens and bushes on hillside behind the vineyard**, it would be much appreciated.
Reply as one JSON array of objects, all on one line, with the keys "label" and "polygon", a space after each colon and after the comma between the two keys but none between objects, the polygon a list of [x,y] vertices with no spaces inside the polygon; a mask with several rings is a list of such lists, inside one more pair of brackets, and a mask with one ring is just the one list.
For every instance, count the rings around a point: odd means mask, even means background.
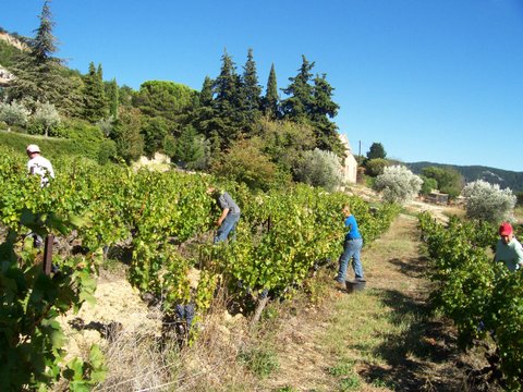
[{"label": "band of mixed evergreens and bushes on hillside behind the vineyard", "polygon": [[[160,151],[181,167],[216,173],[234,168],[236,180],[255,183],[256,171],[269,183],[303,180],[307,151],[335,155],[338,161],[345,154],[333,121],[339,110],[335,88],[327,74],[313,72],[315,62],[305,56],[282,88],[272,63],[265,94],[253,49],[240,69],[224,50],[219,74],[206,76],[199,91],[160,81],[134,90],[105,81],[101,64],[92,62],[82,74],[54,56],[48,0],[39,21],[35,37],[24,39],[28,50],[0,52],[0,62],[15,76],[0,87],[0,112],[10,113],[0,114],[1,120],[13,130],[64,137],[77,130],[97,139],[101,133],[102,155],[114,160],[130,162]],[[44,105],[53,121],[42,125],[32,115]]]}]

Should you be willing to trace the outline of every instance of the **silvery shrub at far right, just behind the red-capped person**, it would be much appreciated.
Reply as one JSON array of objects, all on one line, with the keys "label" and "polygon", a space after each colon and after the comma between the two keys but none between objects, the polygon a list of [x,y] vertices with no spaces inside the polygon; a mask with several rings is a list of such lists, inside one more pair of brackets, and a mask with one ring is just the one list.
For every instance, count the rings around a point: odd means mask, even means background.
[{"label": "silvery shrub at far right, just behind the red-capped person", "polygon": [[466,216],[498,223],[511,220],[516,197],[510,188],[501,189],[498,184],[477,180],[466,184],[462,193],[465,197]]}]

